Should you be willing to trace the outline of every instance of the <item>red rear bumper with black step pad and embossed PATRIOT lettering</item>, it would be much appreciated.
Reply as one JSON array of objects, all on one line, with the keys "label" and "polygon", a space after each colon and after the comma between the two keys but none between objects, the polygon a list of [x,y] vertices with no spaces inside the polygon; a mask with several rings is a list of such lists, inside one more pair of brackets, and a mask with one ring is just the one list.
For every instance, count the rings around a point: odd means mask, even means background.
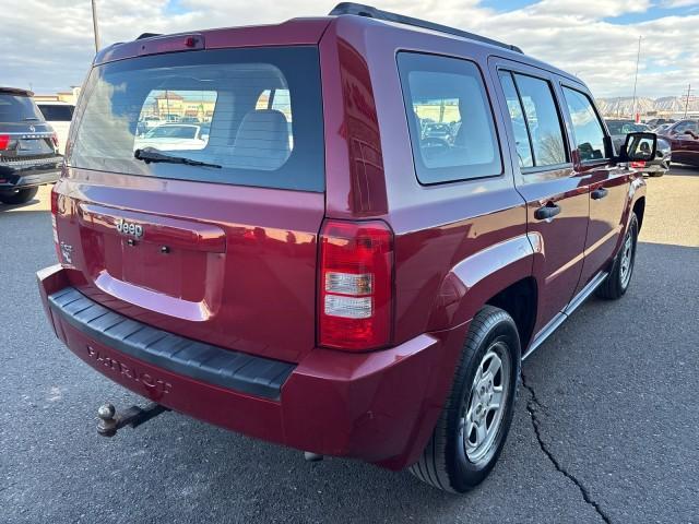
[{"label": "red rear bumper with black step pad and embossed PATRIOT lettering", "polygon": [[[463,324],[423,334],[368,354],[315,348],[297,365],[166,333],[164,336],[170,337],[166,340],[175,345],[178,340],[185,341],[200,353],[187,346],[182,354],[181,346],[175,352],[167,344],[144,349],[142,344],[139,354],[138,343],[123,345],[132,338],[125,331],[115,334],[107,330],[100,335],[94,325],[85,325],[85,319],[98,313],[93,310],[80,318],[81,311],[94,305],[88,298],[73,297],[73,308],[59,303],[61,296],[74,293],[64,270],[48,267],[37,277],[57,336],[83,361],[125,388],[174,410],[251,437],[392,469],[415,462],[431,434],[467,329]],[[126,322],[126,331],[140,326],[153,330],[132,319]],[[133,337],[138,338],[138,333]],[[201,352],[223,354],[206,356]],[[225,362],[236,358],[250,362],[232,372]],[[210,373],[202,374],[206,366]],[[212,379],[214,374],[218,380]]]}]

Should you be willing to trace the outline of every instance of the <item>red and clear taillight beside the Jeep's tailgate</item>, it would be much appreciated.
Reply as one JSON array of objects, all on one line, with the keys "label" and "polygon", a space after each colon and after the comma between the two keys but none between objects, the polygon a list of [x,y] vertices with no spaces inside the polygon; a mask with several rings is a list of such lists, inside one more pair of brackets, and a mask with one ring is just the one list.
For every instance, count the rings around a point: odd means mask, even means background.
[{"label": "red and clear taillight beside the Jeep's tailgate", "polygon": [[362,352],[390,343],[393,233],[387,224],[325,222],[319,285],[320,345]]}]

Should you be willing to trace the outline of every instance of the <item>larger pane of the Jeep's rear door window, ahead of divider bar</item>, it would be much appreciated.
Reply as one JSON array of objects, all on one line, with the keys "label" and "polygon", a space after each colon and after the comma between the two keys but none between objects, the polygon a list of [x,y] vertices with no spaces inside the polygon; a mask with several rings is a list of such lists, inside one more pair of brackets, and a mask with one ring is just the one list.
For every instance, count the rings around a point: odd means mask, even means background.
[{"label": "larger pane of the Jeep's rear door window, ahead of divider bar", "polygon": [[555,166],[567,162],[564,133],[550,84],[542,79],[514,73],[534,148],[534,165]]}]

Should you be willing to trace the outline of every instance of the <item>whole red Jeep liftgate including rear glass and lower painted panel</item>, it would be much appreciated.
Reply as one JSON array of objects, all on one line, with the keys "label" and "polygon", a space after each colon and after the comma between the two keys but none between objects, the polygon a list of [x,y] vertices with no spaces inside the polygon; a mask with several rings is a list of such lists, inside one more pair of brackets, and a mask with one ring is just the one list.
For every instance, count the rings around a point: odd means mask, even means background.
[{"label": "whole red Jeep liftgate including rear glass and lower painted panel", "polygon": [[[182,336],[300,359],[324,214],[318,49],[132,58],[83,93],[57,186],[73,285]],[[171,126],[201,132],[153,132]]]}]

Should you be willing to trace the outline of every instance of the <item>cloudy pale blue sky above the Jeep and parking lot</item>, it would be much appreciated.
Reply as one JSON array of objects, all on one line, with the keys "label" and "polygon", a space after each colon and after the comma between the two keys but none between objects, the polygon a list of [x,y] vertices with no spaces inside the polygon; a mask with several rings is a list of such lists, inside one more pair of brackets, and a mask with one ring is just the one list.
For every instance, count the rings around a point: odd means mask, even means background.
[{"label": "cloudy pale blue sky above the Jeep and parking lot", "polygon": [[[141,33],[274,24],[339,0],[97,0],[102,46]],[[365,0],[514,44],[581,78],[596,97],[699,94],[699,0]],[[38,94],[80,85],[94,57],[90,0],[0,0],[0,85]]]}]

